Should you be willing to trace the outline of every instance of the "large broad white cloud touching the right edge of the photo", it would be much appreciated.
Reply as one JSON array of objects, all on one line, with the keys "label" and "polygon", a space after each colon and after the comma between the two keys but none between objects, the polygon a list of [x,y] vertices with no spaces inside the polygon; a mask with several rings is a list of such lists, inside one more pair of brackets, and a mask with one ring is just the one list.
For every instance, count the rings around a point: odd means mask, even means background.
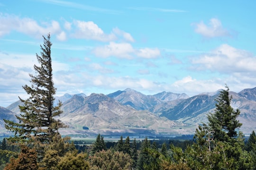
[{"label": "large broad white cloud touching the right edge of the photo", "polygon": [[217,71],[224,74],[254,73],[256,56],[228,44],[222,44],[210,53],[192,59],[192,64],[193,69]]}]

